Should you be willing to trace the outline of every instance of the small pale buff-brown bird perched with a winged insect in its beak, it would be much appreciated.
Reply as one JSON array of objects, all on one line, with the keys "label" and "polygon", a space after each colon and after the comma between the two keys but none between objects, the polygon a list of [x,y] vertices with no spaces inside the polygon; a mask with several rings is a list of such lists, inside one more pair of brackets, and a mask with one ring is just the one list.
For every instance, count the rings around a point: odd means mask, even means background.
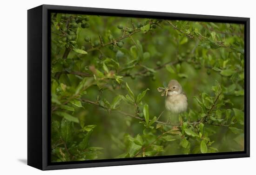
[{"label": "small pale buff-brown bird perched with a winged insect in its beak", "polygon": [[[181,84],[177,80],[170,80],[167,88],[157,88],[157,90],[163,92],[162,96],[166,96],[165,108],[171,113],[169,119],[177,121],[179,115],[188,108],[188,98],[183,93]],[[182,123],[182,118],[180,122]]]}]

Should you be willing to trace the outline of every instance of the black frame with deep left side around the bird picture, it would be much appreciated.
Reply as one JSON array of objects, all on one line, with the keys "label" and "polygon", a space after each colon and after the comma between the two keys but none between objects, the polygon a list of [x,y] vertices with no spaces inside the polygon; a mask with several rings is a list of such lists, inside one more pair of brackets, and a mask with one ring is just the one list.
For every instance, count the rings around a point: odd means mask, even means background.
[{"label": "black frame with deep left side around the bird picture", "polygon": [[[50,162],[50,12],[244,24],[244,151],[76,162]],[[249,157],[249,18],[41,5],[27,11],[27,164],[41,170]]]}]

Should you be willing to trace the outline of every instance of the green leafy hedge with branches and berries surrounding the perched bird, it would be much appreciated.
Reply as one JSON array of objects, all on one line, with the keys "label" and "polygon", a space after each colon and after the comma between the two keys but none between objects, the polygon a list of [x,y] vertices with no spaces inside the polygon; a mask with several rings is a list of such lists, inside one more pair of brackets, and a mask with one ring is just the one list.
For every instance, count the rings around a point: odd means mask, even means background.
[{"label": "green leafy hedge with branches and berries surrounding the perched bird", "polygon": [[[244,26],[51,14],[53,162],[244,149]],[[157,92],[178,80],[179,121]]]}]

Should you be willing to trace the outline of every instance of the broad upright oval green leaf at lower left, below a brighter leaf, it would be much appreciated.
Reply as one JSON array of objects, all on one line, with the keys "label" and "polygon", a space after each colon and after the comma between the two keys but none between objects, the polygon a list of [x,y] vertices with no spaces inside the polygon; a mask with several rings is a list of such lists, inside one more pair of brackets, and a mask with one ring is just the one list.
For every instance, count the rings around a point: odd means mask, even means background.
[{"label": "broad upright oval green leaf at lower left, below a brighter leaf", "polygon": [[61,138],[67,144],[73,139],[72,123],[66,119],[61,120]]}]

